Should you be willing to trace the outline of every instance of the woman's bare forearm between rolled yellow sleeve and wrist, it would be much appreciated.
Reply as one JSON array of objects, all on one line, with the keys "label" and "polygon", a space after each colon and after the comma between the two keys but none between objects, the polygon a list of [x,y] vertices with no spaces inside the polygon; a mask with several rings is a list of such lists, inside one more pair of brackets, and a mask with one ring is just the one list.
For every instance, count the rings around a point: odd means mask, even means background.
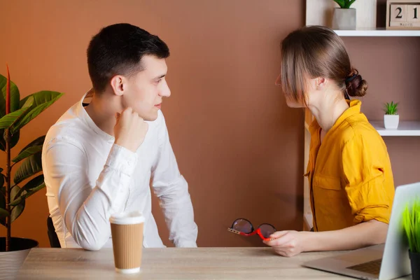
[{"label": "woman's bare forearm between rolled yellow sleeve and wrist", "polygon": [[388,224],[376,220],[342,230],[307,232],[304,251],[353,250],[384,243]]}]

